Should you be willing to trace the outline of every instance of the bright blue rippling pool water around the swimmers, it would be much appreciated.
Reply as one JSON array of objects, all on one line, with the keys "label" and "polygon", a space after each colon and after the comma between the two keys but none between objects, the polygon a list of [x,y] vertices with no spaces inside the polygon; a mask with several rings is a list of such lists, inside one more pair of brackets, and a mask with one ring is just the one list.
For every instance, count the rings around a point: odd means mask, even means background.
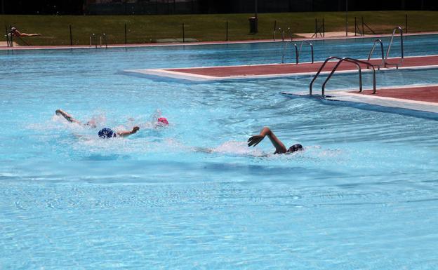
[{"label": "bright blue rippling pool water around the swimmers", "polygon": [[[407,36],[406,55],[438,54],[437,42]],[[317,41],[315,55],[366,58],[371,44]],[[436,269],[434,116],[279,94],[310,76],[124,73],[280,60],[273,43],[0,51],[0,269]],[[380,72],[378,86],[437,73]],[[357,75],[329,84],[354,88]],[[100,140],[58,108],[140,132]],[[157,111],[168,128],[152,128]],[[306,150],[246,147],[263,126]]]}]

